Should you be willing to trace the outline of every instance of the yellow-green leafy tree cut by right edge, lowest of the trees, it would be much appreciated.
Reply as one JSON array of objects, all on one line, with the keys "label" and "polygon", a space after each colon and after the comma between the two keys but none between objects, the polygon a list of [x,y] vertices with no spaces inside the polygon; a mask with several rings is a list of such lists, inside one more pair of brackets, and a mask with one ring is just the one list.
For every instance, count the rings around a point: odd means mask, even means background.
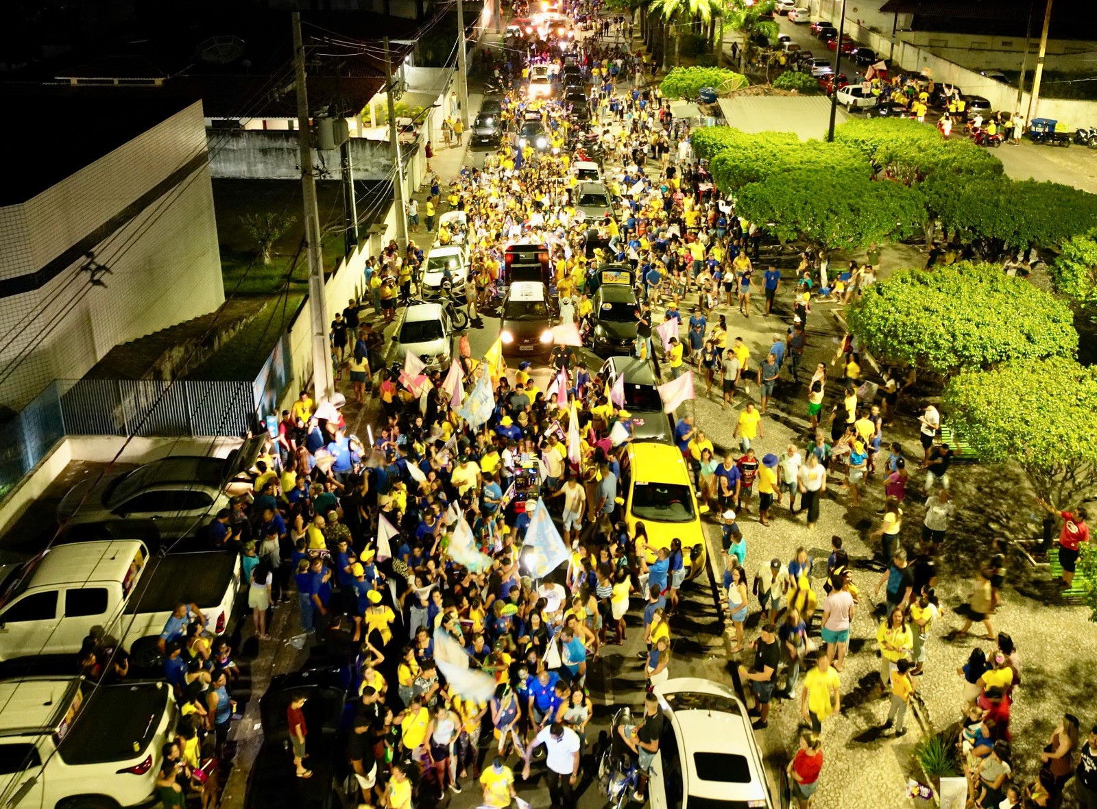
[{"label": "yellow-green leafy tree cut by right edge, lowest of the trees", "polygon": [[982,460],[1016,462],[1038,498],[1071,509],[1097,495],[1097,368],[1053,357],[964,371],[943,406]]}]

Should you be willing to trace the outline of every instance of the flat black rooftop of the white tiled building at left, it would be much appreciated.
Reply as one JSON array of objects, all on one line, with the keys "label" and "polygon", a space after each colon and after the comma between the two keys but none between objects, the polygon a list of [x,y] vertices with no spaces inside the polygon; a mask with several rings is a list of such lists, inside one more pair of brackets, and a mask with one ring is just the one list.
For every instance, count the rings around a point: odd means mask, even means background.
[{"label": "flat black rooftop of the white tiled building at left", "polygon": [[[41,194],[194,101],[193,96],[150,94],[134,99],[129,93],[112,95],[102,89],[89,95],[76,88],[0,86],[0,103],[24,123],[0,127],[0,149],[16,159],[29,148],[49,156],[36,161],[33,171],[8,172],[0,183],[0,206],[18,205]],[[60,114],[71,126],[29,126],[30,122],[56,122]]]}]

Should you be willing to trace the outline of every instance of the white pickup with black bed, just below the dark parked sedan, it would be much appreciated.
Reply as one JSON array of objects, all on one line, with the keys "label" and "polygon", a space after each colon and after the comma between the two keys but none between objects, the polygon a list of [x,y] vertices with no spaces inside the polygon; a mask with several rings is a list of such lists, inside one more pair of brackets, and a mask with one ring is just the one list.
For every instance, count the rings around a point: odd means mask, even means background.
[{"label": "white pickup with black bed, just below the dark parked sedan", "polygon": [[102,626],[147,662],[180,603],[197,604],[219,635],[234,614],[238,570],[231,551],[150,558],[136,539],[55,546],[0,585],[0,661],[76,654],[91,627]]}]

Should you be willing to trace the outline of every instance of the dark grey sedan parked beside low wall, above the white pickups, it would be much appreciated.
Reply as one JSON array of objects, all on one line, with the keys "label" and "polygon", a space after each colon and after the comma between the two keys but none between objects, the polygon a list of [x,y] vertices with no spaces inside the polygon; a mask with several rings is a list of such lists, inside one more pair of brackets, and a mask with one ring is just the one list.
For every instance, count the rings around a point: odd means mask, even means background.
[{"label": "dark grey sedan parked beside low wall, above the white pickups", "polygon": [[224,458],[172,455],[133,471],[84,478],[61,498],[57,520],[68,525],[154,520],[166,539],[191,536],[233,497],[250,491],[245,472],[265,441],[265,434],[248,438]]}]

